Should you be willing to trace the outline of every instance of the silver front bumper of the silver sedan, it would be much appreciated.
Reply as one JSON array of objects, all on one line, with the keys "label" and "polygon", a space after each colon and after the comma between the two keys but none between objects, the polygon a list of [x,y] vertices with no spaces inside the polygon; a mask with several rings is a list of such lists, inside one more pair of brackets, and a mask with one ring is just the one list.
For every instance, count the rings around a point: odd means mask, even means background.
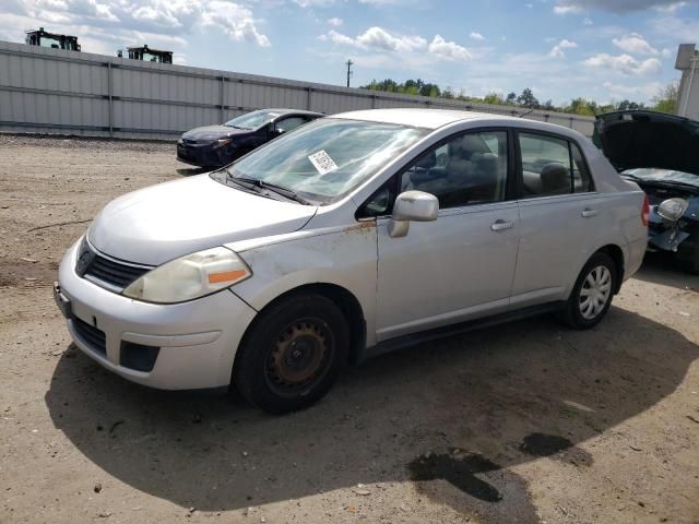
[{"label": "silver front bumper of the silver sedan", "polygon": [[[61,261],[59,289],[70,301],[68,330],[80,349],[110,371],[151,388],[194,390],[230,383],[236,350],[256,315],[252,308],[229,290],[176,305],[123,297],[78,276],[78,247],[79,242]],[[159,348],[153,369],[123,365],[122,350],[133,344]]]}]

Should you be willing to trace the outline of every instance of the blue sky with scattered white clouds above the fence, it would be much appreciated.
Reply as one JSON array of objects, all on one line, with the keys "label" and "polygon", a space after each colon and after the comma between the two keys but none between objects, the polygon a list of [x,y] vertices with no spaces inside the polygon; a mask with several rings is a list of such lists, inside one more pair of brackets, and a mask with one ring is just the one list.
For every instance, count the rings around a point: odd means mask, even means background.
[{"label": "blue sky with scattered white clouds above the fence", "polygon": [[459,94],[649,102],[699,44],[699,0],[0,0],[0,39],[39,26],[115,55],[335,85],[420,78]]}]

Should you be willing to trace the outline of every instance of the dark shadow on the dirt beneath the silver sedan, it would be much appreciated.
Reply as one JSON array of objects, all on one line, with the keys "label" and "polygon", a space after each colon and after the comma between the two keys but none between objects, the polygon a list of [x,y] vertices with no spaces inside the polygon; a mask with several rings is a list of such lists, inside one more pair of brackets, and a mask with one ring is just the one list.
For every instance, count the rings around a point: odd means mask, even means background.
[{"label": "dark shadow on the dirt beneath the silver sedan", "polygon": [[237,396],[138,386],[72,346],[45,400],[87,458],[183,508],[413,481],[463,514],[526,523],[536,513],[510,466],[555,455],[588,467],[579,444],[670,395],[698,357],[678,332],[612,308],[588,332],[542,317],[384,355],[282,417]]}]

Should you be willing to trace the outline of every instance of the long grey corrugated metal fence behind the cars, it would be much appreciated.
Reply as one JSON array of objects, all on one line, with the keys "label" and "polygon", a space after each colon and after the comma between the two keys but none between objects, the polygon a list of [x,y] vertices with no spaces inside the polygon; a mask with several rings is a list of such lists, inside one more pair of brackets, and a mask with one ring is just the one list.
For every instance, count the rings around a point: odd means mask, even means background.
[{"label": "long grey corrugated metal fence behind the cars", "polygon": [[[0,131],[173,139],[261,107],[332,115],[428,107],[522,109],[47,49],[0,40]],[[525,118],[591,135],[593,119],[535,110]]]}]

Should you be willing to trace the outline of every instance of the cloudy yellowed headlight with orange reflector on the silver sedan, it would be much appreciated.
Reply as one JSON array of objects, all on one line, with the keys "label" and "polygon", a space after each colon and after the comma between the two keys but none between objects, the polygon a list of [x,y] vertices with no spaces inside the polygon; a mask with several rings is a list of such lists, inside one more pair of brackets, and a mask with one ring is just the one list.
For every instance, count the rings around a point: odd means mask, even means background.
[{"label": "cloudy yellowed headlight with orange reflector on the silver sedan", "polygon": [[230,287],[251,275],[240,257],[220,247],[167,262],[133,282],[123,295],[146,302],[185,302]]}]

